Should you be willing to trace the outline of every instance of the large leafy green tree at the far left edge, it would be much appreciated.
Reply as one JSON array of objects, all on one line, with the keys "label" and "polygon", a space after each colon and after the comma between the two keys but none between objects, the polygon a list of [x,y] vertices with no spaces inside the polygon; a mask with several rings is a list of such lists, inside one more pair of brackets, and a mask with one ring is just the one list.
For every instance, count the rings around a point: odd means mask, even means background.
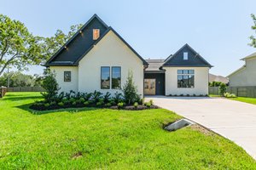
[{"label": "large leafy green tree at the far left edge", "polygon": [[19,71],[37,65],[42,59],[42,37],[33,37],[19,20],[0,14],[0,76],[12,66]]}]

